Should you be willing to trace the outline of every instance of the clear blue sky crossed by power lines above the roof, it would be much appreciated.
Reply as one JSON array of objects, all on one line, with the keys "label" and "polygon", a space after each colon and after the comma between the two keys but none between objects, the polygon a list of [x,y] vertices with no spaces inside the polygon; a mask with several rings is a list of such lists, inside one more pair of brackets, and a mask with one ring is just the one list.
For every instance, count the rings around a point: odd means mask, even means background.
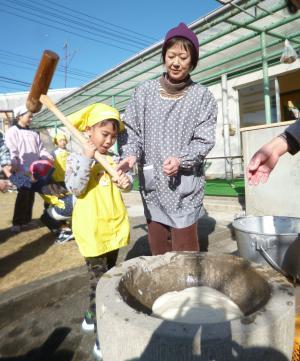
[{"label": "clear blue sky crossed by power lines above the roof", "polygon": [[51,88],[78,87],[179,22],[190,24],[219,6],[215,0],[0,0],[0,93],[29,90],[45,49],[60,56]]}]

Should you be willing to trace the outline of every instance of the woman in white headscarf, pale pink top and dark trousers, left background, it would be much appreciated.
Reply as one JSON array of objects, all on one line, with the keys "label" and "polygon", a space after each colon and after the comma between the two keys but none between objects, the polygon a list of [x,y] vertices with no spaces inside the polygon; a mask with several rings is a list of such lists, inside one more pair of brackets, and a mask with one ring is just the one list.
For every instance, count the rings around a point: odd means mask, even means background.
[{"label": "woman in white headscarf, pale pink top and dark trousers, left background", "polygon": [[[29,128],[32,113],[25,106],[14,110],[16,123],[5,133],[5,142],[10,151],[11,163],[16,173],[29,174],[29,166],[39,159],[53,161],[52,156],[45,149],[37,132]],[[16,198],[12,232],[20,232],[21,228],[32,220],[34,192],[20,189]]]}]

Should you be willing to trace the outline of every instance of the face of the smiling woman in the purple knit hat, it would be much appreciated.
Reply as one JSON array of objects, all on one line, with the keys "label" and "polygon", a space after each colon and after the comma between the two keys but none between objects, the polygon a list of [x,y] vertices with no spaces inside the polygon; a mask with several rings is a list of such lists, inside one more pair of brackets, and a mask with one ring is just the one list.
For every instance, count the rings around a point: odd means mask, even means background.
[{"label": "face of the smiling woman in the purple knit hat", "polygon": [[166,51],[165,67],[169,80],[173,83],[183,81],[192,70],[192,58],[189,50],[176,43]]}]

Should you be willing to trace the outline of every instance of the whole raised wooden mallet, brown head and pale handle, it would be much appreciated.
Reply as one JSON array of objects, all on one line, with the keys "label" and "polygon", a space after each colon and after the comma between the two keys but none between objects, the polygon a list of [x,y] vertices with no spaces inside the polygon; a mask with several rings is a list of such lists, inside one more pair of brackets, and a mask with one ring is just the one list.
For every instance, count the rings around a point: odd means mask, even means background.
[{"label": "whole raised wooden mallet, brown head and pale handle", "polygon": [[[51,50],[43,52],[39,67],[36,71],[32,86],[26,101],[26,107],[31,113],[37,113],[45,105],[64,124],[69,132],[74,135],[81,144],[86,142],[83,134],[71,124],[68,118],[57,108],[52,100],[46,95],[49,89],[59,56]],[[106,157],[95,152],[95,159],[115,179],[118,178],[116,170],[108,163]]]}]

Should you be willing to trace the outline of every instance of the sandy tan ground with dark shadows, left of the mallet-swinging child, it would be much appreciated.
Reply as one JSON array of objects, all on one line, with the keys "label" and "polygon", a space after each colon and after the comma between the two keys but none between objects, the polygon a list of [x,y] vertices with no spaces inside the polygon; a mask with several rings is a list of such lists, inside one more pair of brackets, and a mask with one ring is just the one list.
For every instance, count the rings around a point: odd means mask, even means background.
[{"label": "sandy tan ground with dark shadows, left of the mallet-swinging child", "polygon": [[21,233],[10,231],[17,193],[0,192],[0,292],[84,264],[75,241],[55,244],[55,237],[39,221],[43,201],[36,195],[35,224]]}]

